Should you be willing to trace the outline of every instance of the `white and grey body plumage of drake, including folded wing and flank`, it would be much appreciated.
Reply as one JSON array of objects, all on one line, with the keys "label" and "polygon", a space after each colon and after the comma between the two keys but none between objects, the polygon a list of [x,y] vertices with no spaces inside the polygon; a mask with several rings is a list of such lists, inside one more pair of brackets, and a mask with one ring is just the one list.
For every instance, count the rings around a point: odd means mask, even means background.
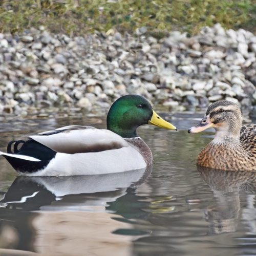
[{"label": "white and grey body plumage of drake, including folded wing and flank", "polygon": [[[54,133],[59,130],[63,131]],[[109,130],[92,129],[88,126],[66,126],[55,131],[29,136],[57,153],[44,168],[32,173],[20,173],[21,175],[99,175],[146,167],[138,148]],[[12,156],[23,158],[22,155]],[[24,156],[23,159],[26,158],[28,156]],[[31,157],[31,160],[37,159]]]}]

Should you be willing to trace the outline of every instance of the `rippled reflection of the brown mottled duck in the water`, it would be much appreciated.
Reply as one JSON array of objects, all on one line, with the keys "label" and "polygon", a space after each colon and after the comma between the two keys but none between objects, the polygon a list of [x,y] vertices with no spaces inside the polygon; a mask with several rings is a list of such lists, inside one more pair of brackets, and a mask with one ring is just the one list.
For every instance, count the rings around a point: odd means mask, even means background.
[{"label": "rippled reflection of the brown mottled duck in the water", "polygon": [[[255,194],[256,173],[216,170],[203,166],[197,166],[197,168],[202,179],[214,191],[214,197],[217,199],[217,206],[205,211],[205,220],[210,223],[209,233],[236,231],[240,215],[240,191]],[[244,216],[248,215],[250,208],[245,209]],[[248,220],[247,217],[246,219]]]}]

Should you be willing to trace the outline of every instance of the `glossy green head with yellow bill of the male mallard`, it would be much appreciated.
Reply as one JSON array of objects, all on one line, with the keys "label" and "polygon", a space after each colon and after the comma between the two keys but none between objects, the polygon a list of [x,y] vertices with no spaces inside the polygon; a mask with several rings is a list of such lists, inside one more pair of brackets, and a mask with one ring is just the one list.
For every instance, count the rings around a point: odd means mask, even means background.
[{"label": "glossy green head with yellow bill of the male mallard", "polygon": [[108,130],[123,138],[138,137],[136,129],[147,123],[169,130],[177,130],[173,124],[156,114],[150,102],[135,94],[125,95],[117,99],[106,118]]}]

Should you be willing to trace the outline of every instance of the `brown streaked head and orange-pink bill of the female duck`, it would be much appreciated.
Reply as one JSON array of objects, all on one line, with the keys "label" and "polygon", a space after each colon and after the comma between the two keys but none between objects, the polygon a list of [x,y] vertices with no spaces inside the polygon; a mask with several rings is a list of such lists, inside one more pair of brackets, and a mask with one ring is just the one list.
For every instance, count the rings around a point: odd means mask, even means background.
[{"label": "brown streaked head and orange-pink bill of the female duck", "polygon": [[239,106],[231,101],[220,100],[209,106],[202,121],[191,127],[188,133],[199,133],[214,127],[216,132],[221,132],[222,138],[239,138],[241,126],[242,114]]}]

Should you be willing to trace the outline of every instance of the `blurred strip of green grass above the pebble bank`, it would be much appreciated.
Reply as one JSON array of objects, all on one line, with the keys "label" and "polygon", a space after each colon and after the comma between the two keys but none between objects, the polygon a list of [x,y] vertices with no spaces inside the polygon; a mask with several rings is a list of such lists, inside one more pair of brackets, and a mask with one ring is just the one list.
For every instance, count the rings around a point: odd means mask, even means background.
[{"label": "blurred strip of green grass above the pebble bank", "polygon": [[[113,3],[112,3],[113,2]],[[44,25],[70,35],[116,28],[149,33],[170,30],[197,33],[203,26],[255,32],[256,0],[0,0],[0,31],[21,32]]]}]

